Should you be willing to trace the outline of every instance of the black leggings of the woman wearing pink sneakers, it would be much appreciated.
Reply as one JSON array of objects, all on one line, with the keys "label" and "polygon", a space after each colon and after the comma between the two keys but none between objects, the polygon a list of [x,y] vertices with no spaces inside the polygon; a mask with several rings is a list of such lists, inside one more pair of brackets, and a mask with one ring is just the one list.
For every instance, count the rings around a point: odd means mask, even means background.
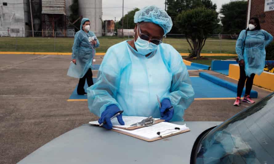
[{"label": "black leggings of the woman wearing pink sneakers", "polygon": [[251,88],[253,85],[253,79],[254,79],[255,74],[252,73],[250,77],[246,76],[245,71],[244,71],[244,66],[240,66],[240,79],[238,81],[238,87],[237,87],[237,97],[241,97],[243,89],[244,89],[244,83],[246,80],[245,84],[245,95],[250,95]]}]

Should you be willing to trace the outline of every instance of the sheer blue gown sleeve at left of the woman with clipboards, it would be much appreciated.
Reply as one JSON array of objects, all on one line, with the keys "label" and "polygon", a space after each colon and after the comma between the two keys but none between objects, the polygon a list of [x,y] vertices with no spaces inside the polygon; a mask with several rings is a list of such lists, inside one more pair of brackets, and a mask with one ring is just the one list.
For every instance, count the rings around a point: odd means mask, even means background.
[{"label": "sheer blue gown sleeve at left of the woman with clipboards", "polygon": [[[88,108],[97,116],[101,116],[107,106],[112,104],[121,109],[115,100],[120,82],[120,64],[118,59],[112,56],[109,51],[107,51],[99,68],[97,82],[87,88]],[[111,62],[108,60],[109,58]]]}]

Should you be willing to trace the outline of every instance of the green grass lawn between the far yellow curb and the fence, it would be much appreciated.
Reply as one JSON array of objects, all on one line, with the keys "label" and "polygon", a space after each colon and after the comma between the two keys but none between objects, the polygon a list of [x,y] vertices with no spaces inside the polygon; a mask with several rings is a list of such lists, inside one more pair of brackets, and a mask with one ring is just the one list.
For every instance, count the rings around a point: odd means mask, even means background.
[{"label": "green grass lawn between the far yellow curb and the fence", "polygon": [[[96,52],[106,52],[110,46],[127,40],[128,37],[98,37],[98,39],[100,47]],[[73,37],[56,37],[54,44],[53,37],[0,37],[0,51],[71,52],[73,40]],[[179,53],[188,53],[190,49],[185,38],[167,37],[163,42],[172,45]],[[235,44],[236,40],[208,38],[201,53],[235,54]]]}]

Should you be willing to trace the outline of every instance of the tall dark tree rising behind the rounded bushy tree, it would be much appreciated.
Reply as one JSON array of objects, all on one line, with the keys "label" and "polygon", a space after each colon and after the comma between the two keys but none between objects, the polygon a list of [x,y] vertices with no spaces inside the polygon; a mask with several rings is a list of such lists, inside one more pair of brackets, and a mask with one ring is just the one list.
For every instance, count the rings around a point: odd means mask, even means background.
[{"label": "tall dark tree rising behind the rounded bushy tree", "polygon": [[[178,13],[197,7],[205,7],[211,10],[217,9],[217,5],[212,4],[211,0],[167,0],[167,14],[171,17],[173,24],[175,24],[174,21]],[[176,26],[173,26],[170,33],[180,32]]]}]

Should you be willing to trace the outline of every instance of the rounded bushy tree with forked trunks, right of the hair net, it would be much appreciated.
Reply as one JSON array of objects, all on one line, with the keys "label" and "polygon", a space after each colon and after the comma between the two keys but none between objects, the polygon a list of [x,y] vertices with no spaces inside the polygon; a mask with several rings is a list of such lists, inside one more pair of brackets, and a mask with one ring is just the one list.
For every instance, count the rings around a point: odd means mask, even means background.
[{"label": "rounded bushy tree with forked trunks, right of the hair net", "polygon": [[190,57],[200,58],[207,37],[218,27],[218,17],[214,10],[199,7],[182,11],[175,19],[179,32],[186,35],[191,48]]}]

